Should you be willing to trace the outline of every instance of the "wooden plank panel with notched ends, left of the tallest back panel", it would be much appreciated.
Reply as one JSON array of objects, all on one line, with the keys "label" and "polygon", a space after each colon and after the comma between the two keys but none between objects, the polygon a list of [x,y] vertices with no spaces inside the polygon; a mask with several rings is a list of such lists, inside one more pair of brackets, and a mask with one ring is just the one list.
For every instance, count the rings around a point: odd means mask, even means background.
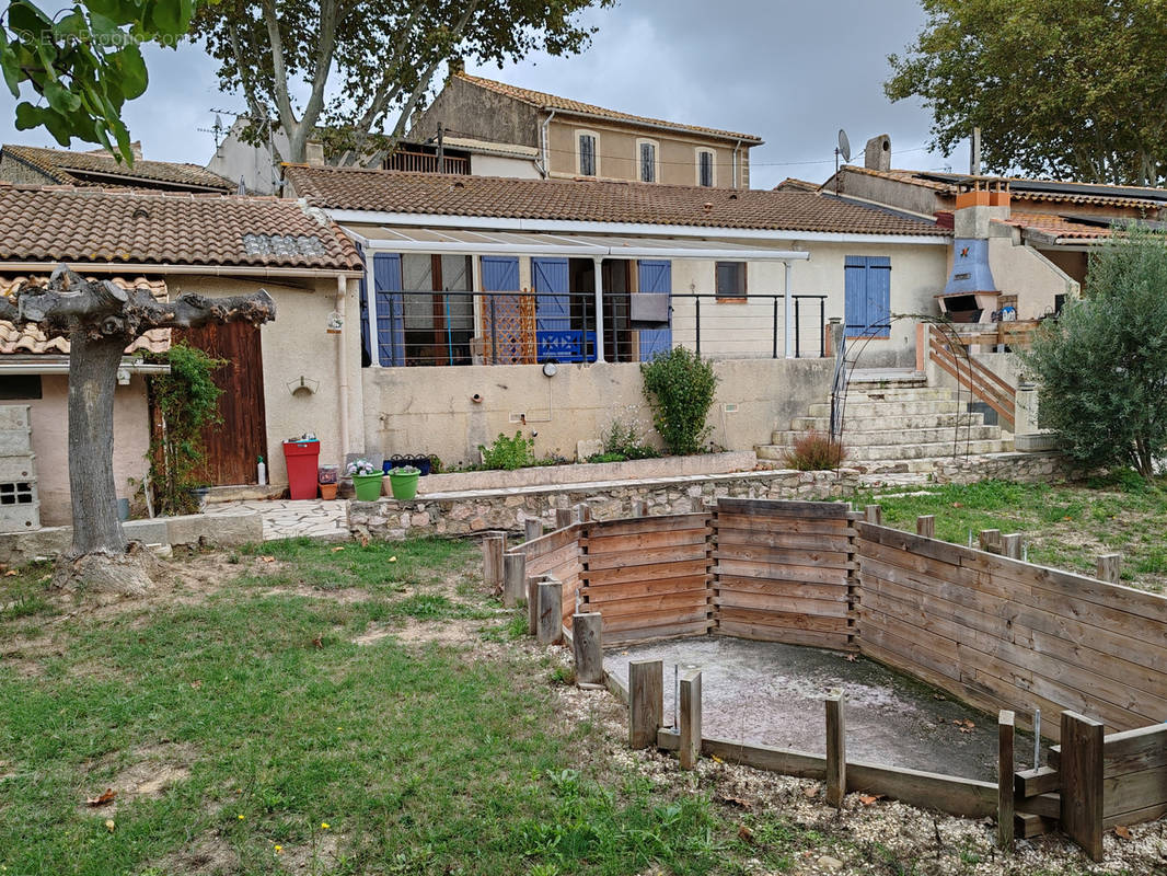
[{"label": "wooden plank panel with notched ends, left of the tallest back panel", "polygon": [[602,616],[605,647],[710,631],[711,516],[703,512],[582,524],[581,611]]}]

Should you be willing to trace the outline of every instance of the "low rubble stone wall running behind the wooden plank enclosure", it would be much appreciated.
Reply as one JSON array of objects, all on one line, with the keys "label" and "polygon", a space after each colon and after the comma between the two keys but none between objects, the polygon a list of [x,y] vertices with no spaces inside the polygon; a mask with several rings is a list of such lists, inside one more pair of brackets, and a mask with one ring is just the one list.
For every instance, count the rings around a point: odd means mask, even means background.
[{"label": "low rubble stone wall running behind the wooden plank enclosure", "polygon": [[790,470],[733,474],[655,478],[642,481],[603,481],[569,486],[474,491],[464,494],[419,496],[399,502],[349,505],[349,528],[356,537],[405,538],[420,535],[469,535],[485,530],[523,529],[527,520],[554,527],[555,510],[586,502],[598,520],[626,517],[633,502],[643,501],[649,514],[685,514],[721,496],[739,499],[847,498],[861,489],[901,486],[927,488],[932,484],[971,484],[980,480],[1036,482],[1058,480],[1070,471],[1053,453],[995,453],[942,464],[931,475],[872,473],[855,468],[837,472]]}]

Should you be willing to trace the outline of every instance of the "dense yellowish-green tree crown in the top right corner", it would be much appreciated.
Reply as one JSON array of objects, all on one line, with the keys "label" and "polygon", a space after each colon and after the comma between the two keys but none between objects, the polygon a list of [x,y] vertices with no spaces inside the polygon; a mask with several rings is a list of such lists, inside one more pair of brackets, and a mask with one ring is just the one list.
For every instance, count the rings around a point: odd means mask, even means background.
[{"label": "dense yellowish-green tree crown in the top right corner", "polygon": [[1156,185],[1167,173],[1167,4],[921,0],[885,91],[921,97],[932,147],[981,130],[988,169]]}]

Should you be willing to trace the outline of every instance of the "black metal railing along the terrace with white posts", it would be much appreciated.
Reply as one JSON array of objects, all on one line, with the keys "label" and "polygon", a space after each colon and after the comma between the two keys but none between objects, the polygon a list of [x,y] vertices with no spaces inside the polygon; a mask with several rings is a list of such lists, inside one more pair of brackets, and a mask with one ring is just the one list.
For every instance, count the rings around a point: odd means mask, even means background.
[{"label": "black metal railing along the terrace with white posts", "polygon": [[[652,294],[652,293],[636,293]],[[378,292],[376,360],[382,366],[641,362],[676,346],[711,359],[785,356],[785,298],[672,294],[668,321],[633,320],[633,294],[605,292]],[[792,352],[827,352],[826,296],[791,296]],[[602,341],[602,343],[601,343]]]}]

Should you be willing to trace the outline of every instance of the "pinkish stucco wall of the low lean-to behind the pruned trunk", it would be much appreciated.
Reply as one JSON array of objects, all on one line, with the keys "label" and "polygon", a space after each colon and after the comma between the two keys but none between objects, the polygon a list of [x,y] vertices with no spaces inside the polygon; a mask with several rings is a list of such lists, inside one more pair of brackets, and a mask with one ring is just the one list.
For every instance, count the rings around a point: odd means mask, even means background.
[{"label": "pinkish stucco wall of the low lean-to behind the pruned trunk", "polygon": [[[41,495],[41,523],[72,523],[69,492],[69,378],[44,375],[41,398],[28,404],[33,425],[33,453]],[[133,492],[128,479],[141,480],[149,467],[149,409],[146,403],[146,378],[132,375],[130,384],[118,387],[113,396],[113,485],[119,498]],[[95,449],[95,453],[102,449]]]}]

